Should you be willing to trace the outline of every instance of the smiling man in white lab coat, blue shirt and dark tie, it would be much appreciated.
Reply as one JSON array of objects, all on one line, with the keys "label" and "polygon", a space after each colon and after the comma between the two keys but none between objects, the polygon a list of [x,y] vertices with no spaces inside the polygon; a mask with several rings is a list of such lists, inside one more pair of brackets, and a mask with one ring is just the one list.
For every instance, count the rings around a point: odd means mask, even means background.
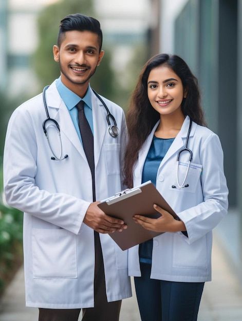
[{"label": "smiling man in white lab coat, blue shirt and dark tie", "polygon": [[95,202],[122,189],[126,136],[122,109],[103,98],[120,131],[110,134],[89,85],[101,46],[96,19],[66,16],[53,46],[60,78],[18,107],[8,125],[5,194],[25,212],[26,305],[39,308],[39,321],[77,321],[81,308],[85,321],[116,321],[121,299],[131,296],[127,252],[107,234],[126,226]]}]

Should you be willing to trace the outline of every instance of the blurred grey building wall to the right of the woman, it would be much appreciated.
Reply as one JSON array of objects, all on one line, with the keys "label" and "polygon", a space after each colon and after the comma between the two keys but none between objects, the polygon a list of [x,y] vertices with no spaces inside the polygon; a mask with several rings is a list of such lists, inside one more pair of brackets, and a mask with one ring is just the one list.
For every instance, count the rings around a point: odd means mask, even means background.
[{"label": "blurred grey building wall to the right of the woman", "polygon": [[216,231],[242,278],[242,1],[161,1],[160,51],[199,79],[208,126],[224,149],[229,214]]}]

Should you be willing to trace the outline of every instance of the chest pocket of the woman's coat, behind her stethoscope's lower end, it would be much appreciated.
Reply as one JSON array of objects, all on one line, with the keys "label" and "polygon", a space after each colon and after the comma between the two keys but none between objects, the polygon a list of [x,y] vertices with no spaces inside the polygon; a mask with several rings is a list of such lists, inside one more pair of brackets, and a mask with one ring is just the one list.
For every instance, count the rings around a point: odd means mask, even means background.
[{"label": "chest pocket of the woman's coat, behind her stethoscope's lower end", "polygon": [[[178,179],[179,184],[181,185],[183,183],[183,180],[185,178],[185,175],[187,174],[188,170],[188,163],[179,162],[179,168],[178,168]],[[185,179],[185,182],[183,186],[188,185],[187,187],[178,188],[177,184],[177,164],[175,165],[175,168],[172,170],[172,178],[171,178],[171,186],[169,187],[172,191],[178,191],[178,192],[190,192],[195,193],[196,187],[200,178],[202,172],[202,165],[190,163],[188,175]],[[173,187],[172,187],[173,186]],[[176,188],[174,188],[176,186]]]}]

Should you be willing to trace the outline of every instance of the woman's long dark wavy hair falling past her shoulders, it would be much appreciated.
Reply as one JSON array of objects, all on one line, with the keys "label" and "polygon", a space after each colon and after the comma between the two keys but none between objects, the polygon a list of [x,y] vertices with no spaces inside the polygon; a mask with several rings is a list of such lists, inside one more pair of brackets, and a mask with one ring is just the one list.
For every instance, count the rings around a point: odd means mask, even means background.
[{"label": "woman's long dark wavy hair falling past her shoulders", "polygon": [[137,161],[140,148],[153,127],[160,119],[160,114],[151,106],[147,95],[147,79],[153,68],[165,65],[171,68],[181,79],[187,97],[181,102],[184,116],[189,116],[198,125],[206,126],[200,105],[200,92],[197,78],[188,65],[177,55],[158,54],[143,67],[136,88],[131,97],[127,112],[128,144],[124,157],[124,184],[133,186],[133,167]]}]

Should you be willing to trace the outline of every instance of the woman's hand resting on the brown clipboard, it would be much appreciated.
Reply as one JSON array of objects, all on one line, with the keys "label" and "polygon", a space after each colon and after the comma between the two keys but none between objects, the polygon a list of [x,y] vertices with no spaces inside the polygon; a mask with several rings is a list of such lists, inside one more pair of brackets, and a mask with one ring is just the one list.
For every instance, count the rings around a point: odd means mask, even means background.
[{"label": "woman's hand resting on the brown clipboard", "polygon": [[159,218],[149,218],[143,215],[135,215],[135,223],[144,229],[155,232],[179,232],[186,231],[182,220],[175,219],[169,212],[154,204],[154,209],[161,214]]}]

